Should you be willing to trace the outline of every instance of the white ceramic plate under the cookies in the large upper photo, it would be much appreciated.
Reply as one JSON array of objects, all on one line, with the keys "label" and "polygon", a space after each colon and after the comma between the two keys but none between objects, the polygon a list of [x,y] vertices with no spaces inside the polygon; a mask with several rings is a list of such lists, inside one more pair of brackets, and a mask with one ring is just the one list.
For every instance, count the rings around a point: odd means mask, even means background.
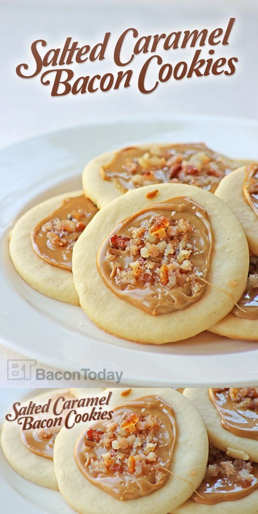
[{"label": "white ceramic plate under the cookies in the large upper photo", "polygon": [[256,343],[209,333],[162,346],[124,341],[101,331],[80,308],[34,291],[10,261],[8,233],[21,213],[38,201],[80,187],[84,165],[95,155],[134,142],[158,140],[205,141],[229,157],[258,158],[257,123],[209,117],[75,127],[22,141],[0,153],[4,177],[0,196],[3,343],[58,369],[123,371],[123,382],[129,385],[251,385],[258,379]]}]

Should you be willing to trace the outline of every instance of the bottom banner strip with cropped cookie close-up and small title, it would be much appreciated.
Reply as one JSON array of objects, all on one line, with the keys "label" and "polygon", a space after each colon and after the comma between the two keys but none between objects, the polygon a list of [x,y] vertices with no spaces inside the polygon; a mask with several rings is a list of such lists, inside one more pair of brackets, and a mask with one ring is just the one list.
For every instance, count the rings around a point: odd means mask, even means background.
[{"label": "bottom banner strip with cropped cookie close-up and small title", "polygon": [[258,387],[0,394],[2,512],[258,513]]}]

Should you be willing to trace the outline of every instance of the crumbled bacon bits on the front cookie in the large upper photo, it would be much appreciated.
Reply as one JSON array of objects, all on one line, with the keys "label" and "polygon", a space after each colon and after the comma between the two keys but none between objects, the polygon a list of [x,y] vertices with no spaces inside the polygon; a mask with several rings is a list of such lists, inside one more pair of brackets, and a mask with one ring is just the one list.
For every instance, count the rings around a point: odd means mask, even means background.
[{"label": "crumbled bacon bits on the front cookie in the large upper photo", "polygon": [[152,215],[144,218],[140,227],[129,228],[131,237],[113,234],[106,252],[110,278],[122,288],[189,285],[193,295],[200,289],[191,262],[193,231],[183,217]]}]

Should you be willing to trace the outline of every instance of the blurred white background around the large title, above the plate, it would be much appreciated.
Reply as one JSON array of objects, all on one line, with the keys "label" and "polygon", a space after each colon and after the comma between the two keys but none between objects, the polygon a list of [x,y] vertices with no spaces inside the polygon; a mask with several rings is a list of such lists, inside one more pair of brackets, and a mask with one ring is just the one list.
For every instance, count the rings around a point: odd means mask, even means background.
[{"label": "blurred white background around the large title, above the plate", "polygon": [[[230,17],[236,18],[230,44],[214,48],[218,58],[239,58],[236,72],[231,77],[171,80],[149,95],[137,90],[135,79],[128,89],[53,98],[50,87],[43,86],[39,77],[25,80],[15,73],[20,63],[28,63],[33,69],[30,46],[36,39],[45,39],[47,49],[62,46],[67,36],[83,46],[100,42],[105,32],[111,32],[105,61],[86,62],[73,68],[76,76],[94,75],[117,69],[112,64],[112,49],[118,36],[128,27],[137,28],[139,35],[194,28],[212,30],[226,27]],[[2,147],[49,130],[110,118],[176,114],[257,118],[257,0],[1,0],[0,20]],[[128,39],[128,52],[130,42]],[[162,56],[164,62],[175,64],[182,59],[190,62],[193,53],[194,49],[172,50],[163,52]],[[145,60],[146,56],[135,59],[135,78],[136,70]],[[1,171],[2,180],[4,172]],[[3,347],[0,350],[0,373],[4,384],[7,358],[21,356]],[[58,385],[62,386],[61,383]],[[15,383],[10,386],[15,387]]]}]

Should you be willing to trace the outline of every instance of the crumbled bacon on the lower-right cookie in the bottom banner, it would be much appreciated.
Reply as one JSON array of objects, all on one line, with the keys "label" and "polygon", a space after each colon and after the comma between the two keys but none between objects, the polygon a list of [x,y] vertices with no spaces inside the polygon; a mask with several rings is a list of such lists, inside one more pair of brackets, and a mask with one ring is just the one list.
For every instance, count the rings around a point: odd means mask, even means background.
[{"label": "crumbled bacon on the lower-right cookie in the bottom banner", "polygon": [[254,479],[252,470],[250,461],[229,457],[225,452],[210,446],[205,476],[207,482],[215,476],[218,480],[226,479],[228,485],[245,488],[250,486]]}]

